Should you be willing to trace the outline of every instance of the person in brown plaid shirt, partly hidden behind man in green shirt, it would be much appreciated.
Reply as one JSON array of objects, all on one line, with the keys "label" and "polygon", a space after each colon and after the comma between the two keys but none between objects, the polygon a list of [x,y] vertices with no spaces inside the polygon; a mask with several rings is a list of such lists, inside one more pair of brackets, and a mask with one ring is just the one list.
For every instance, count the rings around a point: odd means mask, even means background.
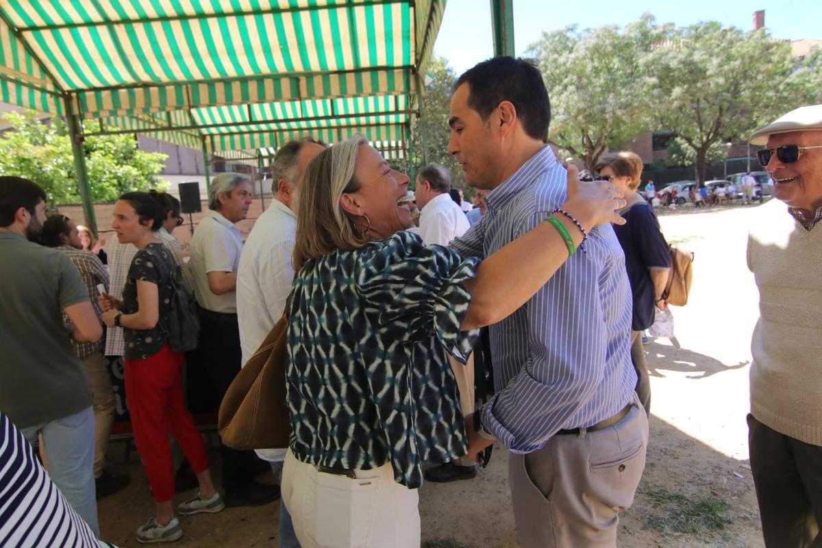
[{"label": "person in brown plaid shirt, partly hidden behind man in green shirt", "polygon": [[[46,219],[43,225],[42,243],[54,247],[65,253],[72,263],[80,270],[80,276],[89,295],[99,293],[97,286],[102,284],[105,291],[109,291],[109,273],[98,256],[90,251],[84,251],[80,242],[77,225],[66,215],[55,214]],[[97,317],[102,312],[97,299],[91,299]],[[67,318],[64,318],[67,321]],[[85,371],[89,375],[91,391],[94,397],[95,411],[95,485],[97,498],[122,490],[131,478],[122,474],[113,474],[105,470],[105,454],[109,446],[109,435],[114,422],[114,391],[109,377],[104,356],[104,343],[101,338],[95,343],[78,343],[72,340],[74,353],[83,361]]]}]

